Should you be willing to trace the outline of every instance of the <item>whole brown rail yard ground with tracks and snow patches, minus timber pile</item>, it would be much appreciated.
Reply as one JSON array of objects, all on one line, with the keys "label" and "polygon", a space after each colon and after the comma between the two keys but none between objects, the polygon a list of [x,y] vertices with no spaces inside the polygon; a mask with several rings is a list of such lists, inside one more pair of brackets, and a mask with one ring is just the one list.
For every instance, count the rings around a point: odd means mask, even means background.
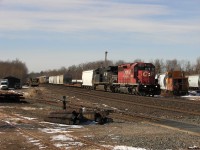
[{"label": "whole brown rail yard ground with tracks and snow patches, minus timber pile", "polygon": [[[41,84],[1,101],[1,149],[199,149],[200,98],[143,97]],[[63,98],[66,109],[63,109]],[[109,121],[76,125],[47,120],[52,112],[109,110]]]}]

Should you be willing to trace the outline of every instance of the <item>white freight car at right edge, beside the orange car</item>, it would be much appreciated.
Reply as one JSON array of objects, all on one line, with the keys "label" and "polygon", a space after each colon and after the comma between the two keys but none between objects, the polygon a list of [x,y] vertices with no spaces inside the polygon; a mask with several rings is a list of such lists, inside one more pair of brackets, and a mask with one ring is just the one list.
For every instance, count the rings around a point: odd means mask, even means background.
[{"label": "white freight car at right edge, beside the orange car", "polygon": [[188,76],[188,82],[190,90],[200,90],[200,75]]}]

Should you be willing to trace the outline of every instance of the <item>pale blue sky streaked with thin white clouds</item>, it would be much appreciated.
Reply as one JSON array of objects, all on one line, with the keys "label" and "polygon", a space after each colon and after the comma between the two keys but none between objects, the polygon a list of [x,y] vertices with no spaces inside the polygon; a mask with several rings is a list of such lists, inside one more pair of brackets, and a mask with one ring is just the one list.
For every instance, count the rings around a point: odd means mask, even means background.
[{"label": "pale blue sky streaked with thin white clouds", "polygon": [[0,0],[0,60],[29,72],[200,57],[200,0]]}]

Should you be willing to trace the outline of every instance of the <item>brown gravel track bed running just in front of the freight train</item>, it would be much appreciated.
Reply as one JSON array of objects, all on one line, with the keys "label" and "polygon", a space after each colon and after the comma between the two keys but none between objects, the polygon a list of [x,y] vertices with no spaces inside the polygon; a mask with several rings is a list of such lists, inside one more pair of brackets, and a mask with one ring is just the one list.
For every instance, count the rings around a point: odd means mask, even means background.
[{"label": "brown gravel track bed running just in front of the freight train", "polygon": [[[57,86],[56,86],[57,88]],[[174,111],[179,113],[185,113],[190,115],[200,115],[200,102],[188,101],[183,99],[171,99],[171,98],[152,98],[152,97],[141,97],[126,94],[116,94],[98,91],[88,91],[85,89],[77,90],[77,88],[65,88],[58,87],[54,88],[54,91],[65,92],[65,94],[75,94],[87,97],[93,97],[95,99],[126,103],[127,105],[137,105],[161,110]]]}]

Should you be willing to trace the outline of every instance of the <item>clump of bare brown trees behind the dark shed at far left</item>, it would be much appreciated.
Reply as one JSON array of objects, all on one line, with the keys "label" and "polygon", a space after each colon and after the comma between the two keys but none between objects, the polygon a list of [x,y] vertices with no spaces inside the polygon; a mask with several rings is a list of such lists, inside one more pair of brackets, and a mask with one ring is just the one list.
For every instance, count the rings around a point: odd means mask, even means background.
[{"label": "clump of bare brown trees behind the dark shed at far left", "polygon": [[13,61],[0,61],[0,78],[13,76],[19,78],[22,83],[26,81],[28,69],[26,64],[16,59]]}]

